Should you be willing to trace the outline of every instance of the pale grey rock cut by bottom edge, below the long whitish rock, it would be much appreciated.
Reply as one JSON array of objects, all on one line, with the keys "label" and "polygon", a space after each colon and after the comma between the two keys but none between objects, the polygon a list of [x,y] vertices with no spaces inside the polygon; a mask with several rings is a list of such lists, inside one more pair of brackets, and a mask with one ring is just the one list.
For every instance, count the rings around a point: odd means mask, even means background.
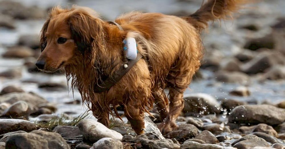
[{"label": "pale grey rock cut by bottom edge, below the long whitish rock", "polygon": [[123,143],[112,138],[101,138],[93,144],[93,148],[102,149],[123,149]]}]

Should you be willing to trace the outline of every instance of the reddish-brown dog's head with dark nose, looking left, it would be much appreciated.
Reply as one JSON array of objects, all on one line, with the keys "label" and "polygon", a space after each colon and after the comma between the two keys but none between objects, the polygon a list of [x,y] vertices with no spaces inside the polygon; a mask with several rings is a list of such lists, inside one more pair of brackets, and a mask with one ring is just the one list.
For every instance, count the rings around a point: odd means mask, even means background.
[{"label": "reddish-brown dog's head with dark nose, looking left", "polygon": [[84,7],[54,7],[40,34],[41,55],[36,66],[45,72],[76,62],[86,50],[102,45],[102,20]]}]

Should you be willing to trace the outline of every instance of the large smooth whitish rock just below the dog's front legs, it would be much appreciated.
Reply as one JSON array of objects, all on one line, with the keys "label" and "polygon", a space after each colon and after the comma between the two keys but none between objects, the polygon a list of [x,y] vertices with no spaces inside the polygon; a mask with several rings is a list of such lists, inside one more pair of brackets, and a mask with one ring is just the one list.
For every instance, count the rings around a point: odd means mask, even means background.
[{"label": "large smooth whitish rock just below the dog's front legs", "polygon": [[92,120],[83,119],[78,123],[78,127],[86,140],[91,142],[96,142],[101,138],[113,138],[117,140],[122,140],[123,136],[104,126],[103,124]]}]

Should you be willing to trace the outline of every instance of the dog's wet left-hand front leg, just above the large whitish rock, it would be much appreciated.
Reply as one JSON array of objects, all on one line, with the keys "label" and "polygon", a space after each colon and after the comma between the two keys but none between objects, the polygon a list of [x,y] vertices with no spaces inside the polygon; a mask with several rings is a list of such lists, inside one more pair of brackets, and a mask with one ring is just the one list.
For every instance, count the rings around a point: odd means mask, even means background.
[{"label": "dog's wet left-hand front leg, just above the large whitish rock", "polygon": [[94,117],[98,119],[98,122],[102,123],[106,127],[109,127],[109,112],[100,108],[100,105],[92,104],[92,112]]}]

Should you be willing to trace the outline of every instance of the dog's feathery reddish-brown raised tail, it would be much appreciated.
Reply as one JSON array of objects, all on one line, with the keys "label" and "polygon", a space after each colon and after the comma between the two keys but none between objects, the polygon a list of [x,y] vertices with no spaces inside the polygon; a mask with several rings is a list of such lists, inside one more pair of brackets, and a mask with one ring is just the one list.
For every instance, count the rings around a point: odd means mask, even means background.
[{"label": "dog's feathery reddish-brown raised tail", "polygon": [[183,18],[201,31],[207,28],[208,21],[231,18],[246,3],[249,0],[208,0],[195,13]]}]

